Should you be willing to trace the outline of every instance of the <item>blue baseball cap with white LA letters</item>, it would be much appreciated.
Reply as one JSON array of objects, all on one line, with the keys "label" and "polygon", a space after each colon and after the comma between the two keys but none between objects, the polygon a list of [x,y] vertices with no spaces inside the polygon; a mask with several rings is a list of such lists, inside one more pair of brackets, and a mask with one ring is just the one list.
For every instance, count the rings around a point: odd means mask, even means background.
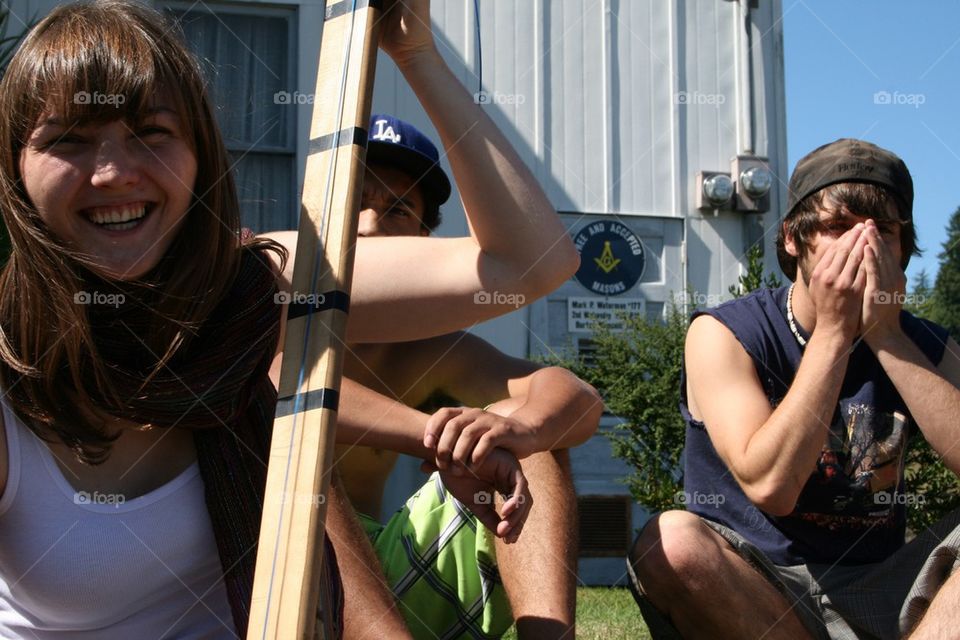
[{"label": "blue baseball cap with white LA letters", "polygon": [[416,127],[399,118],[370,116],[367,164],[385,164],[404,171],[437,206],[450,197],[450,179],[440,166],[437,147]]}]

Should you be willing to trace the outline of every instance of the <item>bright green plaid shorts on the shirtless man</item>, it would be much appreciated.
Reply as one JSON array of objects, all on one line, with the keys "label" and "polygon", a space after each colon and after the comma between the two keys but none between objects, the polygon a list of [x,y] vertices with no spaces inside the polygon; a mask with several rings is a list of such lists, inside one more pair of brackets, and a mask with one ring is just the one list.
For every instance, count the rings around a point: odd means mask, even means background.
[{"label": "bright green plaid shorts on the shirtless man", "polygon": [[358,515],[414,638],[499,638],[513,624],[493,534],[439,474],[386,524]]}]

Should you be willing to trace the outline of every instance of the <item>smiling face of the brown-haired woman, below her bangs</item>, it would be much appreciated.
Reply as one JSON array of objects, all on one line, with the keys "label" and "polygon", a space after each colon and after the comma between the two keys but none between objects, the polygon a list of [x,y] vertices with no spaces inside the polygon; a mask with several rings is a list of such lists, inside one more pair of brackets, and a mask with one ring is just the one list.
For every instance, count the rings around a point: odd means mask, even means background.
[{"label": "smiling face of the brown-haired woman, below her bangs", "polygon": [[106,277],[133,280],[155,267],[193,202],[197,159],[169,104],[161,98],[136,124],[69,125],[46,114],[20,154],[41,219]]}]

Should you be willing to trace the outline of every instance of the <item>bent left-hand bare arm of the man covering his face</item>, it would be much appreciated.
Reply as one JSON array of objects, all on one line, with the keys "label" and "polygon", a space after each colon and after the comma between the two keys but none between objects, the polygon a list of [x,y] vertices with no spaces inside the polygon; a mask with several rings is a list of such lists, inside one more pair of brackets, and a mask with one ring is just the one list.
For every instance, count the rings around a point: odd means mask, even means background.
[{"label": "bent left-hand bare arm of the man covering his face", "polygon": [[687,395],[717,454],[747,497],[790,513],[826,441],[849,342],[814,332],[786,397],[773,410],[753,360],[719,321],[700,316],[685,348]]}]

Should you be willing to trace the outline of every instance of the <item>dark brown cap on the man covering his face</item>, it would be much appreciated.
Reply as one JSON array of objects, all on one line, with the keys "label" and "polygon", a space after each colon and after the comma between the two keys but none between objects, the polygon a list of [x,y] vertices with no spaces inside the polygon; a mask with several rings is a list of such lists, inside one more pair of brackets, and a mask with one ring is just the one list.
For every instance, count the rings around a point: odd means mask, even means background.
[{"label": "dark brown cap on the man covering his face", "polygon": [[903,219],[913,219],[913,178],[907,165],[890,151],[853,138],[841,138],[818,147],[797,163],[790,176],[786,215],[807,196],[841,182],[887,187],[902,200]]}]

